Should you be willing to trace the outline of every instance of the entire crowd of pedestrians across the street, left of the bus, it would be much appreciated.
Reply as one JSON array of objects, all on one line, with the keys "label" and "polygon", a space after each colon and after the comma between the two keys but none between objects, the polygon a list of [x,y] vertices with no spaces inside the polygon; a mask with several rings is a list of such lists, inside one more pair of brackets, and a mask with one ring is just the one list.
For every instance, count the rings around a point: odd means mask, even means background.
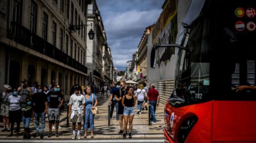
[{"label": "entire crowd of pedestrians across the street, left of the bus", "polygon": [[[28,87],[26,79],[23,79],[20,85],[17,89],[11,88],[7,84],[3,86],[1,97],[2,132],[9,131],[9,136],[13,136],[14,133],[19,136],[20,122],[23,122],[23,138],[31,138],[30,122],[35,119],[35,133],[32,136],[44,138],[46,118],[48,118],[48,137],[53,135],[58,137],[60,112],[64,107],[64,93],[61,86],[52,81],[49,86],[38,85],[37,82],[34,82],[32,87]],[[72,139],[81,139],[82,122],[84,122],[83,137],[88,136],[88,129],[90,129],[90,137],[94,137],[95,115],[92,114],[91,110],[98,105],[96,90],[94,85],[91,87],[76,84],[71,88],[67,114],[72,122]],[[144,109],[147,110],[147,102],[149,101],[151,122],[152,124],[156,123],[155,109],[159,104],[159,93],[155,90],[154,84],[148,89],[146,84],[139,84],[137,88],[135,85],[126,86],[125,81],[121,81],[119,86],[113,82],[111,88],[101,86],[100,90],[101,96],[109,97],[109,103],[111,104],[110,118],[112,118],[115,108],[116,119],[119,120],[120,127],[118,134],[123,135],[123,138],[126,138],[126,135],[132,138],[131,132],[133,130],[136,101],[138,115],[141,115]],[[128,122],[129,132],[127,132]]]}]

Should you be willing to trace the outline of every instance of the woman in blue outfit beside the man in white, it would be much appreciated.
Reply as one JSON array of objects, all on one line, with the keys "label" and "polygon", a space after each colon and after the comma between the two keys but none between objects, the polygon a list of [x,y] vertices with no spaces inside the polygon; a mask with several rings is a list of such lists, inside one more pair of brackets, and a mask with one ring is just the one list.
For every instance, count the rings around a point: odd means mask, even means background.
[{"label": "woman in blue outfit beside the man in white", "polygon": [[[93,103],[92,105],[92,96]],[[94,129],[94,115],[90,109],[94,109],[98,104],[98,100],[95,94],[91,93],[90,86],[86,86],[86,94],[85,94],[85,124],[84,124],[84,138],[87,137],[87,129],[90,127],[90,135],[93,138],[93,129]]]}]

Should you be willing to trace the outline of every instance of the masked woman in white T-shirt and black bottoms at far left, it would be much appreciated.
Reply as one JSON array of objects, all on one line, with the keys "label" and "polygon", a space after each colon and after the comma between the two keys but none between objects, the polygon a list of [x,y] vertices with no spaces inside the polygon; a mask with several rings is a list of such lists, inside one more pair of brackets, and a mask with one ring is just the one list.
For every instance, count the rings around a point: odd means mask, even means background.
[{"label": "masked woman in white T-shirt and black bottoms at far left", "polygon": [[9,136],[13,136],[14,122],[17,124],[16,136],[19,136],[20,122],[22,121],[22,111],[20,107],[22,98],[18,96],[16,89],[14,89],[13,95],[8,97],[8,101],[10,103],[9,119],[11,123],[11,133]]}]

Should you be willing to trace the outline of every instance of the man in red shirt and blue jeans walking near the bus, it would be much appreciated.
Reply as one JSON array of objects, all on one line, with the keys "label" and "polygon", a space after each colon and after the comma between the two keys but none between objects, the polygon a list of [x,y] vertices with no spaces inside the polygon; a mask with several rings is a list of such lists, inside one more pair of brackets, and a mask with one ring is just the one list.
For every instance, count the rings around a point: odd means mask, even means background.
[{"label": "man in red shirt and blue jeans walking near the bus", "polygon": [[150,85],[150,90],[148,90],[147,92],[147,97],[149,101],[149,109],[150,109],[150,115],[151,115],[150,121],[152,124],[156,124],[155,110],[156,110],[156,106],[159,105],[160,96],[159,96],[158,90],[155,90],[154,84]]}]

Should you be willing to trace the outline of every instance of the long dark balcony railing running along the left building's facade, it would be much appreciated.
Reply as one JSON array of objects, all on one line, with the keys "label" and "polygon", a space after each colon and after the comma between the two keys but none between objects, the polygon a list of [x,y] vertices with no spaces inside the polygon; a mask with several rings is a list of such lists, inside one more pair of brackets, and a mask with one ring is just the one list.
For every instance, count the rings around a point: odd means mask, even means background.
[{"label": "long dark balcony railing running along the left building's facade", "polygon": [[8,35],[11,40],[19,44],[87,73],[87,67],[18,23],[11,23],[11,31]]}]

